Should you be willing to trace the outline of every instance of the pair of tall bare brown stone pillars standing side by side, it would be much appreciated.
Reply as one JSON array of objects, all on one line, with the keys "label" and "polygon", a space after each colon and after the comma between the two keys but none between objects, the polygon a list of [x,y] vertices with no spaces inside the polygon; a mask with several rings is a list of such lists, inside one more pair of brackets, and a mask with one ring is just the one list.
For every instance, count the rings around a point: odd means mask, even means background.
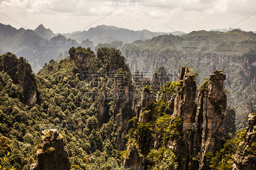
[{"label": "pair of tall bare brown stone pillars standing side by side", "polygon": [[[215,154],[222,148],[223,114],[227,105],[226,94],[223,92],[225,75],[214,71],[209,81],[197,91],[197,95],[193,75],[187,67],[180,68],[178,80],[182,84],[182,91],[175,98],[173,116],[182,117],[184,136],[170,147],[180,160],[178,169],[198,167],[206,170],[209,167],[205,154]],[[199,161],[193,160],[198,153]]]}]

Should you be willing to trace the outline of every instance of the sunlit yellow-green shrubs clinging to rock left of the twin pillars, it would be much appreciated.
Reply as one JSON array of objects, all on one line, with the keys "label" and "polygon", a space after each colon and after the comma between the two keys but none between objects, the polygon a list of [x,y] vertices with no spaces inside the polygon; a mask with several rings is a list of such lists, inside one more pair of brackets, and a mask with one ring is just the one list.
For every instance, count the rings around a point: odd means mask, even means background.
[{"label": "sunlit yellow-green shrubs clinging to rock left of the twin pillars", "polygon": [[[148,168],[151,170],[174,170],[178,166],[178,163],[175,162],[175,154],[171,149],[165,148],[170,139],[179,138],[181,136],[181,118],[171,117],[171,112],[167,105],[167,101],[171,99],[171,96],[175,92],[177,92],[178,88],[180,88],[180,84],[177,82],[165,82],[158,91],[159,99],[153,104],[154,107],[143,108],[143,115],[149,114],[151,109],[154,108],[155,121],[140,123],[136,117],[133,117],[129,121],[132,122],[133,127],[129,129],[129,132],[126,135],[126,138],[129,139],[126,145],[129,146],[131,150],[141,152],[140,147],[142,145],[143,147],[146,145],[146,148],[148,149],[154,148],[153,146],[148,146],[148,143],[145,143],[145,141],[148,141],[148,137],[151,137],[152,139],[160,137],[160,148],[158,150],[150,149],[150,152],[146,155],[147,160],[150,162]],[[152,88],[149,86],[144,87],[144,91],[153,93]],[[143,117],[143,115],[141,116]],[[170,122],[172,123],[170,124]],[[140,140],[138,141],[139,138]],[[128,151],[122,152],[121,158],[124,158],[127,154]]]}]

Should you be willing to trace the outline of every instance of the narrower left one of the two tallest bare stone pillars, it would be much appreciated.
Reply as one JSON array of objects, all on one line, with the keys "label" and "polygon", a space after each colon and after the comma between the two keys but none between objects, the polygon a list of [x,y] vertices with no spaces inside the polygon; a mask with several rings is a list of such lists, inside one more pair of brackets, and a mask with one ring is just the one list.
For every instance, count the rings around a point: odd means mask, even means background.
[{"label": "narrower left one of the two tallest bare stone pillars", "polygon": [[[188,127],[194,123],[194,106],[196,98],[196,82],[188,67],[180,67],[180,74],[178,82],[181,84],[182,90],[178,89],[178,93],[174,100],[174,109],[172,116],[181,117],[183,120],[182,134],[184,135],[180,140],[171,141],[170,148],[174,149],[178,162],[179,169],[187,169],[189,161],[190,150],[190,136]],[[171,124],[172,122],[170,122]],[[193,125],[191,125],[193,126]]]}]

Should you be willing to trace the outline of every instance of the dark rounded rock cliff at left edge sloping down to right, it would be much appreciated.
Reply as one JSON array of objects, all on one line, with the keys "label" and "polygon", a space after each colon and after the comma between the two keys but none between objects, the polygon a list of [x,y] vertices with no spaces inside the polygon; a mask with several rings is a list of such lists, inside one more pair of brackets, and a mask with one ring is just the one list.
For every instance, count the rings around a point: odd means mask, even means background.
[{"label": "dark rounded rock cliff at left edge sloping down to right", "polygon": [[30,64],[26,59],[12,53],[3,55],[3,61],[0,70],[7,72],[15,84],[19,84],[24,91],[25,102],[33,107],[36,103],[36,78]]}]

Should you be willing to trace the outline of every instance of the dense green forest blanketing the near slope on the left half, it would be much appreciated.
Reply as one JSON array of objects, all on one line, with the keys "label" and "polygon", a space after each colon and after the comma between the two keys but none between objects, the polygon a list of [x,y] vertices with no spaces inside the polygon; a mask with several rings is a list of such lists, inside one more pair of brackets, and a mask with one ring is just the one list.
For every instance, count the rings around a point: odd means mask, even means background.
[{"label": "dense green forest blanketing the near slope on the left half", "polygon": [[[78,47],[73,52],[91,54],[93,64],[89,70],[100,70],[103,65],[109,65],[109,60],[102,64],[88,48]],[[118,50],[103,48],[100,52],[105,58],[116,54],[116,62],[123,64],[121,69],[129,70],[125,65],[125,58]],[[109,117],[112,117],[109,122],[99,127],[96,112],[101,84],[92,86],[92,82],[81,79],[81,70],[70,57],[61,59],[60,62],[51,60],[49,65],[53,66],[53,71],[48,74],[46,66],[36,75],[38,98],[32,108],[25,105],[24,92],[20,85],[14,84],[7,73],[0,72],[0,157],[9,151],[14,154],[14,160],[9,162],[14,168],[29,169],[30,164],[36,160],[36,150],[42,148],[41,130],[56,128],[67,142],[73,168],[96,168],[101,164],[120,165],[120,153],[115,149],[117,133],[112,116],[111,95],[107,106]],[[99,80],[102,78],[101,75]],[[111,94],[113,78],[104,79],[106,84],[109,82],[106,91]],[[77,135],[79,118],[85,120],[82,123],[82,135]],[[105,138],[105,134],[109,134],[111,141]],[[45,153],[53,150],[49,148]]]}]

